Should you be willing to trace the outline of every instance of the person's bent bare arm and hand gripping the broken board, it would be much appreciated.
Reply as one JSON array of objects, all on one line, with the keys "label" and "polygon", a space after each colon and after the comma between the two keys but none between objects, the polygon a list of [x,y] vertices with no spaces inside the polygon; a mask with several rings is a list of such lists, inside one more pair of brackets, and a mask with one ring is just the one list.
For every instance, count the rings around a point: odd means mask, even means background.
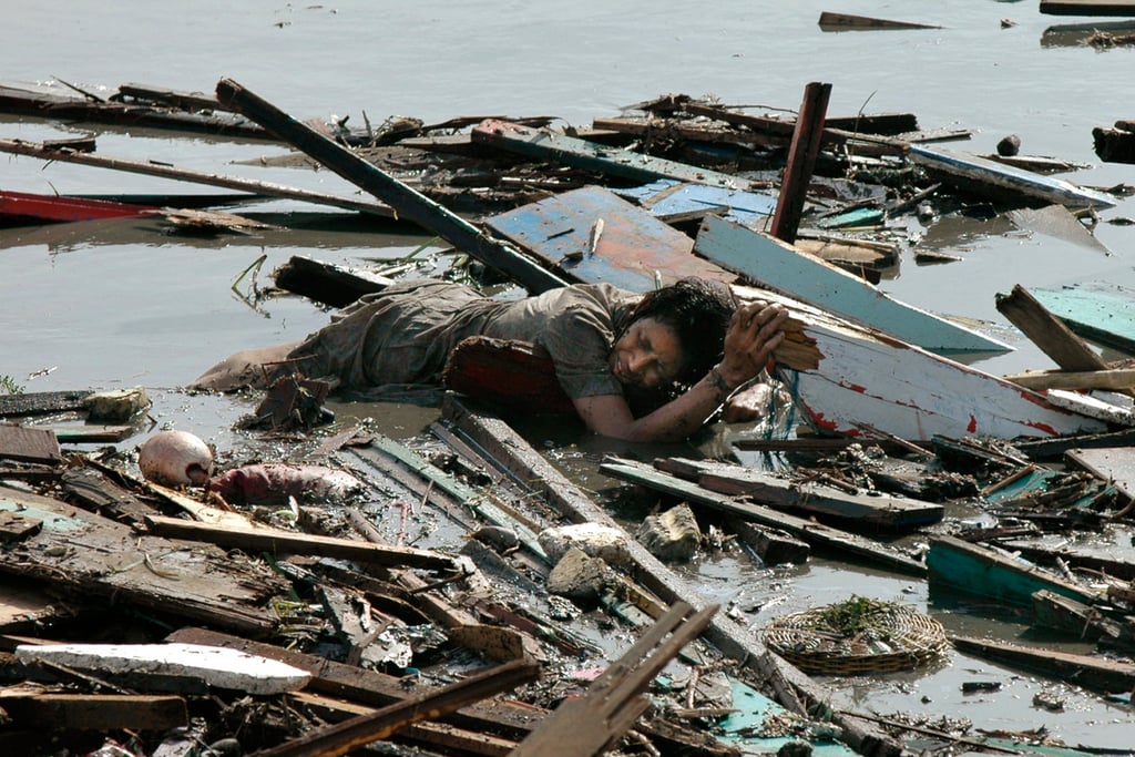
[{"label": "person's bent bare arm and hand gripping the broken board", "polygon": [[603,436],[630,441],[678,441],[698,430],[722,402],[756,378],[773,350],[784,339],[781,326],[788,311],[754,301],[733,313],[725,333],[724,358],[687,392],[654,412],[634,418],[622,395],[574,399],[587,427]]}]

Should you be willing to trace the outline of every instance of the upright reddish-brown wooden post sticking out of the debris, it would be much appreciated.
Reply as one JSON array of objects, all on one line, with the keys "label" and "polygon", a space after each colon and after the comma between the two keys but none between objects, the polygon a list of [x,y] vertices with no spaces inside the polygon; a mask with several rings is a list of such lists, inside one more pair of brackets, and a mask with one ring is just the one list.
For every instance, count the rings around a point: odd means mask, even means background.
[{"label": "upright reddish-brown wooden post sticking out of the debris", "polygon": [[807,200],[808,183],[819,154],[819,142],[824,134],[824,116],[827,115],[827,99],[832,85],[809,82],[804,87],[804,100],[792,131],[792,142],[788,148],[788,159],[781,178],[776,211],[773,213],[768,233],[788,244],[796,241],[800,227],[800,216]]}]

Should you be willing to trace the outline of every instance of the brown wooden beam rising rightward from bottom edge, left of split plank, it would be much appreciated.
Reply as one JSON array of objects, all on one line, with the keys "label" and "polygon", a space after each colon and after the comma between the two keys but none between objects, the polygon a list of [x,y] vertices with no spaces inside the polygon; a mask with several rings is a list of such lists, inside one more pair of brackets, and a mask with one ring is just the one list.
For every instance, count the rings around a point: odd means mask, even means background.
[{"label": "brown wooden beam rising rightward from bottom edge, left of split plank", "polygon": [[260,757],[340,757],[373,741],[387,739],[407,725],[440,717],[471,703],[535,681],[539,674],[538,664],[524,659],[513,661],[258,754]]}]

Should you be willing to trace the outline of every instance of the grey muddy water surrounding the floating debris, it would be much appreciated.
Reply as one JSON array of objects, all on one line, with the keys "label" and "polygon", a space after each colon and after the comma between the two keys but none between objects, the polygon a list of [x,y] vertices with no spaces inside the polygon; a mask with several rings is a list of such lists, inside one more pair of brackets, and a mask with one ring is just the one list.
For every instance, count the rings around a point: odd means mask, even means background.
[{"label": "grey muddy water surrounding the floating debris", "polygon": [[[564,6],[421,0],[150,3],[76,0],[49,5],[8,0],[0,25],[3,77],[53,77],[89,92],[140,82],[212,91],[232,77],[300,118],[388,116],[438,121],[470,115],[554,115],[586,125],[595,116],[669,92],[714,94],[729,104],[794,108],[805,84],[833,85],[832,115],[914,112],[924,128],[973,131],[968,143],[990,152],[1010,133],[1028,154],[1087,163],[1066,176],[1088,186],[1135,183],[1135,170],[1100,165],[1091,129],[1135,113],[1125,110],[1135,50],[1095,51],[1078,35],[1050,27],[1087,19],[1045,17],[1035,2],[960,3],[818,0],[722,0],[690,11],[659,2]],[[822,10],[940,26],[910,32],[825,33]],[[1002,24],[1002,19],[1007,23]],[[0,121],[0,136],[43,140],[85,129],[30,119]],[[144,131],[99,129],[102,154],[161,160],[322,192],[352,193],[322,173],[238,163],[280,154],[275,146],[170,140]],[[60,193],[211,192],[165,179],[101,169],[43,165],[0,155],[0,186]],[[268,208],[251,208],[266,210]],[[188,397],[176,387],[220,356],[252,345],[300,338],[327,314],[294,297],[271,297],[268,274],[293,254],[333,262],[396,260],[428,242],[404,229],[345,228],[312,211],[305,228],[213,238],[178,234],[157,221],[108,221],[0,230],[0,375],[27,390],[143,385],[159,426],[195,430],[222,453],[243,437],[233,421],[239,402]],[[903,259],[883,288],[926,310],[987,322],[1018,350],[981,364],[995,372],[1049,362],[1003,321],[994,295],[1026,287],[1108,280],[1135,285],[1135,216],[1130,201],[1101,213],[1091,250],[1022,232],[999,220],[943,218],[900,235]],[[918,266],[916,246],[959,262]],[[338,409],[342,417],[352,410]],[[355,409],[359,410],[359,409]],[[429,411],[367,407],[392,436],[424,428]],[[533,429],[533,441],[600,494],[617,485],[595,473],[612,449],[572,429]],[[136,444],[140,438],[132,439]],[[634,452],[634,451],[631,451]],[[641,452],[641,451],[640,451]],[[646,459],[646,454],[641,456]],[[816,560],[790,571],[755,570],[707,557],[696,571],[706,592],[759,629],[774,614],[836,602],[850,592],[910,602],[951,631],[1027,640],[1011,617],[986,619],[931,598],[917,581]],[[995,680],[1000,691],[962,695],[960,684]],[[1039,690],[1059,690],[1063,713],[1034,706]],[[1132,710],[1057,683],[956,655],[948,666],[903,676],[840,681],[835,706],[882,714],[900,709],[968,716],[977,727],[1048,725],[1070,745],[1129,748]]]}]

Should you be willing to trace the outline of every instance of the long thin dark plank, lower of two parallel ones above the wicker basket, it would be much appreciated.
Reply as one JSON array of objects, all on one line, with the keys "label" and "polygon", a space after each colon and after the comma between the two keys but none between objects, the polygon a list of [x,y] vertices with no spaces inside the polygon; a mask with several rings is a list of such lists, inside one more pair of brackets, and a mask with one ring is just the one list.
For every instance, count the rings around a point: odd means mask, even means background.
[{"label": "long thin dark plank, lower of two parallel ones above the wicker basket", "polygon": [[906,555],[892,553],[874,539],[817,523],[813,520],[777,512],[739,497],[723,496],[705,487],[669,476],[644,463],[630,460],[608,459],[599,470],[607,476],[631,481],[658,491],[682,497],[691,503],[721,510],[762,525],[787,531],[817,547],[835,549],[877,565],[911,575],[924,575],[925,566]]}]

